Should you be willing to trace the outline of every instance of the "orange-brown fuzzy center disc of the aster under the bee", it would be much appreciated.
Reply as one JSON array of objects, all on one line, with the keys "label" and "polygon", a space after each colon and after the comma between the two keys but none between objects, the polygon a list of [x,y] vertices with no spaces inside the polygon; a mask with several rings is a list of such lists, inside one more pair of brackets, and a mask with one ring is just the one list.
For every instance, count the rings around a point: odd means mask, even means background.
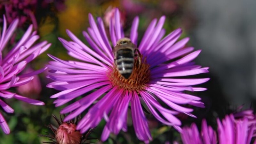
[{"label": "orange-brown fuzzy center disc of the aster under the bee", "polygon": [[148,86],[147,83],[150,80],[150,70],[149,64],[147,64],[146,58],[142,58],[140,56],[141,62],[138,59],[134,59],[134,66],[132,70],[131,76],[126,79],[124,78],[120,72],[117,70],[116,65],[110,68],[108,73],[108,79],[112,83],[112,85],[118,86],[119,89],[137,92],[140,90],[145,90]]}]

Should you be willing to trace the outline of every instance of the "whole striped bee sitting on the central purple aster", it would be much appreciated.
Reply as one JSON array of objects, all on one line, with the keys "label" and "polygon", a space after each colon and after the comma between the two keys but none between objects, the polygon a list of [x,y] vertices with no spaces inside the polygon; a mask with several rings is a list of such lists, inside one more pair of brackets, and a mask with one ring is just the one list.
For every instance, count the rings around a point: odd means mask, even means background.
[{"label": "whole striped bee sitting on the central purple aster", "polygon": [[132,75],[134,58],[137,57],[140,65],[140,51],[129,38],[122,38],[116,42],[113,49],[115,64],[118,72],[128,79]]}]

